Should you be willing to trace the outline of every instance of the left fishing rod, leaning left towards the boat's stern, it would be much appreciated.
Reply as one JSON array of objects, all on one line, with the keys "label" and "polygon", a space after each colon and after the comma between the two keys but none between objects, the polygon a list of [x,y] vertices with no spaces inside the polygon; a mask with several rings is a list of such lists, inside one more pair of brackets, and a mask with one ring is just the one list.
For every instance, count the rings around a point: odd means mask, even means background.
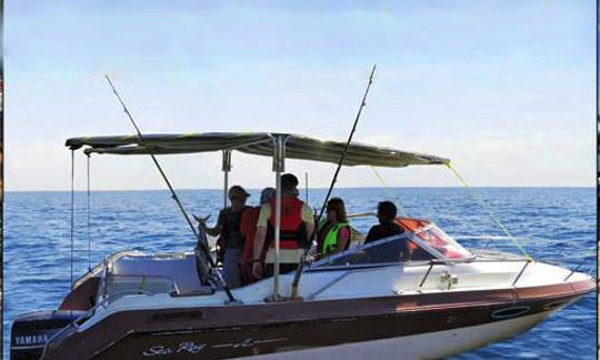
[{"label": "left fishing rod, leaning left towards the boat's stern", "polygon": [[173,187],[171,186],[171,182],[167,178],[167,174],[164,173],[164,171],[162,171],[162,168],[161,168],[160,163],[158,162],[154,154],[150,151],[150,147],[148,147],[148,144],[146,143],[146,141],[143,139],[143,136],[142,136],[141,131],[140,131],[140,128],[138,128],[138,126],[136,124],[136,121],[133,120],[133,117],[131,116],[131,113],[127,109],[127,106],[124,104],[123,100],[119,96],[119,92],[117,92],[117,89],[112,84],[112,81],[110,81],[109,76],[104,74],[104,77],[107,78],[108,83],[112,88],[112,92],[114,93],[114,96],[117,97],[117,99],[119,100],[121,106],[123,107],[124,113],[127,113],[129,120],[131,120],[131,123],[133,124],[133,128],[136,128],[136,132],[138,133],[138,141],[140,142],[140,144],[142,147],[144,147],[144,148],[147,148],[149,150],[148,153],[150,154],[150,158],[152,158],[152,161],[154,162],[154,164],[157,166],[158,171],[160,172],[160,176],[162,177],[162,179],[167,183],[167,187],[169,188],[169,191],[171,191],[171,198],[174,200],[174,202],[179,207],[179,210],[181,210],[181,213],[183,214],[183,218],[186,218],[186,222],[188,222],[188,226],[190,227],[191,231],[193,232],[193,236],[196,237],[196,240],[197,240],[196,250],[202,250],[204,252],[204,256],[208,259],[210,266],[214,269],[214,272],[217,273],[217,278],[219,279],[219,281],[223,286],[223,290],[226,291],[227,297],[229,298],[229,301],[236,302],[237,300],[233,297],[233,294],[231,293],[231,289],[229,289],[229,286],[226,283],[223,277],[221,276],[221,273],[217,269],[217,264],[214,263],[214,261],[212,260],[212,257],[210,256],[210,250],[208,249],[206,243],[200,241],[200,236],[198,234],[198,231],[193,227],[193,223],[191,222],[191,219],[188,216],[188,212],[186,211],[186,209],[183,209],[183,206],[181,204],[181,201],[179,200],[179,197],[177,196]]}]

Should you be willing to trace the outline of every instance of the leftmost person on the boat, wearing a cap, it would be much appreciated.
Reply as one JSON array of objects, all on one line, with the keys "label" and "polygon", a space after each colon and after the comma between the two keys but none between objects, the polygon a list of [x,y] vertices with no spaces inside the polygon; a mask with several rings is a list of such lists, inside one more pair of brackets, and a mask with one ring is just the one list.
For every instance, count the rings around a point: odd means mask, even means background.
[{"label": "leftmost person on the boat, wearing a cap", "polygon": [[241,286],[240,260],[243,252],[243,236],[240,232],[242,213],[250,207],[246,200],[250,194],[240,186],[232,186],[228,191],[231,206],[219,212],[217,224],[207,229],[207,233],[219,237],[217,259],[223,264],[223,278],[230,288]]}]

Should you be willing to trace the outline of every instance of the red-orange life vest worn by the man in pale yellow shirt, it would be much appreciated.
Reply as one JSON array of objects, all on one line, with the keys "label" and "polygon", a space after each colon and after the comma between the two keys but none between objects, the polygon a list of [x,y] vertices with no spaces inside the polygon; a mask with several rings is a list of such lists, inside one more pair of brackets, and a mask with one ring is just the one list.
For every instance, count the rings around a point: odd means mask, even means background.
[{"label": "red-orange life vest worn by the man in pale yellow shirt", "polygon": [[[276,203],[274,199],[269,201],[271,216],[269,217],[269,227],[267,230],[267,241],[274,247],[274,223],[276,223]],[[308,239],[302,222],[302,207],[304,202],[294,196],[281,197],[281,221],[279,232],[280,249],[301,249],[304,248]]]}]

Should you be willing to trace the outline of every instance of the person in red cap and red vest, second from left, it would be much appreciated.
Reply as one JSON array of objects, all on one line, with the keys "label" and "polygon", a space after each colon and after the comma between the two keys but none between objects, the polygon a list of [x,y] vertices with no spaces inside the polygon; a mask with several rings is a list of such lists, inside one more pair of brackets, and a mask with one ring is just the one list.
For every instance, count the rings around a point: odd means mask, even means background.
[{"label": "person in red cap and red vest, second from left", "polygon": [[[241,259],[241,276],[242,284],[248,284],[254,282],[256,279],[252,274],[252,259],[254,258],[254,236],[257,233],[257,222],[260,214],[260,209],[263,203],[268,203],[272,198],[274,198],[276,189],[264,188],[260,193],[260,204],[254,208],[250,208],[243,211],[240,222],[240,231],[243,234],[243,253]],[[263,247],[263,250],[260,254],[260,258],[257,262],[264,262],[264,256],[267,251]]]}]

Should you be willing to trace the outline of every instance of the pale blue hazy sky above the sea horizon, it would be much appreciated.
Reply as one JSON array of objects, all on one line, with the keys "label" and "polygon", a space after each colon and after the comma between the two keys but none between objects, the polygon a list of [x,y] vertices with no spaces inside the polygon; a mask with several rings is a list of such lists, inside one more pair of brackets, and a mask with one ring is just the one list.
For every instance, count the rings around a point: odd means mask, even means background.
[{"label": "pale blue hazy sky above the sea horizon", "polygon": [[[6,189],[68,190],[70,137],[280,131],[447,157],[472,186],[596,184],[594,1],[4,3]],[[86,183],[77,153],[76,187]],[[176,188],[220,188],[219,153],[163,156]],[[164,189],[148,157],[92,156],[92,190]],[[326,187],[332,164],[287,161]],[[442,167],[387,186],[460,186]],[[273,182],[233,154],[232,183]],[[339,187],[378,187],[344,168]]]}]

